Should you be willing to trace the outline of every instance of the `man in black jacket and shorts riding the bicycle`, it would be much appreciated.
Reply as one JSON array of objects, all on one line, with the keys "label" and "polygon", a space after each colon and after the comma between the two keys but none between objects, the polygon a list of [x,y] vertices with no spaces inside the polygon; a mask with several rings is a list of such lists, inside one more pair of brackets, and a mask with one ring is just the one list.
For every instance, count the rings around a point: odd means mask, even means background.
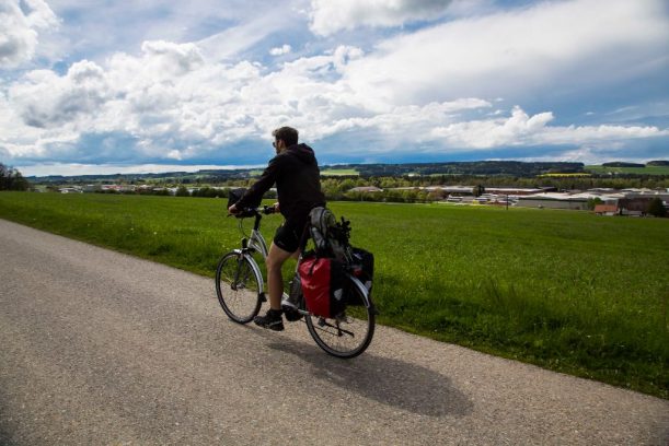
[{"label": "man in black jacket and shorts riding the bicycle", "polygon": [[237,214],[244,208],[257,206],[263,195],[276,184],[278,203],[275,207],[286,220],[277,228],[266,259],[269,309],[265,316],[256,316],[253,321],[261,327],[281,331],[281,267],[298,253],[309,212],[315,207],[324,207],[325,196],[321,191],[321,173],[313,150],[307,144],[298,144],[298,131],[281,127],[274,130],[272,136],[276,156],[269,160],[261,178],[228,212]]}]

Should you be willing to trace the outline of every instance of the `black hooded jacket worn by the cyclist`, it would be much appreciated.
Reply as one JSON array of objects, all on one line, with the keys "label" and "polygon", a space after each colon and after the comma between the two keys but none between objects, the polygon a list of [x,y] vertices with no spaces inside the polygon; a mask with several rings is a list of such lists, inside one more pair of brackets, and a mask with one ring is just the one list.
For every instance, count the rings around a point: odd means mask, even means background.
[{"label": "black hooded jacket worn by the cyclist", "polygon": [[307,144],[291,145],[269,160],[261,178],[237,202],[237,208],[257,206],[274,184],[281,214],[289,224],[303,226],[311,209],[325,206],[319,164]]}]

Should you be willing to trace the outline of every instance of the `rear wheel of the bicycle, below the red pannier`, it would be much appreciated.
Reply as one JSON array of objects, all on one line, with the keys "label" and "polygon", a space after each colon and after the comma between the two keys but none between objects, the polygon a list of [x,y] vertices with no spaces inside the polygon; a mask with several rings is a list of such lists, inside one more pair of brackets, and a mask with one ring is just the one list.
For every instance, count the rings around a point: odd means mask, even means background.
[{"label": "rear wheel of the bicycle, below the red pannier", "polygon": [[[362,292],[348,279],[348,292],[365,302]],[[327,354],[342,359],[356,357],[369,347],[374,336],[376,310],[369,298],[369,306],[349,306],[344,317],[305,317],[309,333]],[[351,316],[353,315],[353,316]]]}]

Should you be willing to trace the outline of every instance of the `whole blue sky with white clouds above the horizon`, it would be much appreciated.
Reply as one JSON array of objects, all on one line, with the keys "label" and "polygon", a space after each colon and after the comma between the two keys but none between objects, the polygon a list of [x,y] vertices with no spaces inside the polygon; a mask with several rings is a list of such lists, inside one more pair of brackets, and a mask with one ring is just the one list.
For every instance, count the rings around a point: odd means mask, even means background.
[{"label": "whole blue sky with white clouds above the horizon", "polygon": [[24,175],[669,159],[666,0],[0,0]]}]

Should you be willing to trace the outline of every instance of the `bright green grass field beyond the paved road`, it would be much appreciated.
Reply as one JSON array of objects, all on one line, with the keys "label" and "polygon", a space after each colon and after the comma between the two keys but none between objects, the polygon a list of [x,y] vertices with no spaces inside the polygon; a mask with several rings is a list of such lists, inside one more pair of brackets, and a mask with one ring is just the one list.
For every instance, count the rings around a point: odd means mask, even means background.
[{"label": "bright green grass field beyond the paved road", "polygon": [[[669,397],[669,219],[331,208],[376,255],[380,322]],[[2,192],[0,218],[209,277],[241,237],[220,199]],[[264,220],[267,238],[278,224]]]}]

